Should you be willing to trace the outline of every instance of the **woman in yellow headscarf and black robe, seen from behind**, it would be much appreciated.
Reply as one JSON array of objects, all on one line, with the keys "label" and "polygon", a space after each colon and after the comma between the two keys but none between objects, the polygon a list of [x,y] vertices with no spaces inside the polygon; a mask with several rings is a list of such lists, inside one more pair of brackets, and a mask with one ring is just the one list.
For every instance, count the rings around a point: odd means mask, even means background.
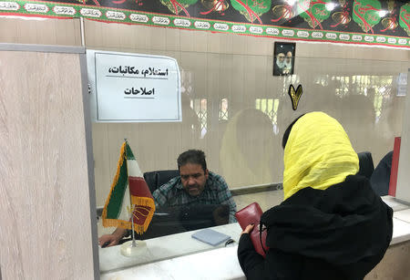
[{"label": "woman in yellow headscarf and black robe, seen from behind", "polygon": [[256,253],[249,225],[238,247],[243,272],[248,279],[363,279],[390,244],[393,211],[357,174],[343,127],[308,113],[292,122],[282,146],[284,201],[261,216],[270,249],[265,259]]}]

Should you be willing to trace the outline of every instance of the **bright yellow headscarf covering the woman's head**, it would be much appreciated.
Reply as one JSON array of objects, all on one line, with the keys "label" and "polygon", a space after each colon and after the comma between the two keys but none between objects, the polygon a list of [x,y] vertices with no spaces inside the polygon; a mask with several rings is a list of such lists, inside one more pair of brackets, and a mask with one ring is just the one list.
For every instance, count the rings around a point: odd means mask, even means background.
[{"label": "bright yellow headscarf covering the woman's head", "polygon": [[342,125],[312,112],[292,127],[284,150],[283,192],[288,199],[303,188],[326,190],[359,171],[359,159]]}]

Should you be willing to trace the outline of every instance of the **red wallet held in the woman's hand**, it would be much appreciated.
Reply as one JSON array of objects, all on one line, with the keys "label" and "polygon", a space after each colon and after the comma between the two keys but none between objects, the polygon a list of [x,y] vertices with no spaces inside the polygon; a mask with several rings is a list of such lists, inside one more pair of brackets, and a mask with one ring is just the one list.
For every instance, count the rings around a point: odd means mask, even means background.
[{"label": "red wallet held in the woman's hand", "polygon": [[253,202],[235,213],[235,217],[238,223],[241,225],[242,230],[244,230],[246,226],[251,223],[255,225],[250,233],[251,242],[253,244],[253,247],[255,247],[255,251],[258,254],[261,254],[261,256],[265,257],[265,252],[268,252],[269,247],[266,246],[267,231],[262,231],[260,236],[259,222],[261,221],[262,213],[263,212],[261,211],[261,206],[259,206],[257,202]]}]

